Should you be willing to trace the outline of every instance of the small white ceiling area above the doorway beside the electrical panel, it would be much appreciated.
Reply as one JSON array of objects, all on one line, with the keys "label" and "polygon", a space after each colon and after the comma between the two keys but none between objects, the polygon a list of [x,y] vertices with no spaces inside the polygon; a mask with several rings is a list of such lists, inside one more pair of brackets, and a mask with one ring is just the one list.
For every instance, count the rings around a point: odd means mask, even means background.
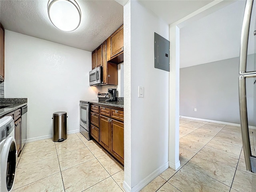
[{"label": "small white ceiling area above the doorway beside the electrical panel", "polygon": [[139,0],[167,24],[172,24],[213,0]]}]

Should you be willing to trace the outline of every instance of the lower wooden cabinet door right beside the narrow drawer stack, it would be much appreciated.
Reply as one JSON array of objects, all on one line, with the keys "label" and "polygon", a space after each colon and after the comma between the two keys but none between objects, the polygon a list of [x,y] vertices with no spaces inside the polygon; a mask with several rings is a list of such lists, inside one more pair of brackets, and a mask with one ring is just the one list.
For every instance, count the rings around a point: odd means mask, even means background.
[{"label": "lower wooden cabinet door right beside the narrow drawer stack", "polygon": [[100,144],[110,151],[110,118],[100,115]]}]

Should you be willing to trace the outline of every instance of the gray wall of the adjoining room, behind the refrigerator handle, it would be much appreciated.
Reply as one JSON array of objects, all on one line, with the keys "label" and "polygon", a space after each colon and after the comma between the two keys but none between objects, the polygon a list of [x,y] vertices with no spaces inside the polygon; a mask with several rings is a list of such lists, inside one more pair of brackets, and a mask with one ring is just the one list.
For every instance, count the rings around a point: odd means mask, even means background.
[{"label": "gray wall of the adjoining room, behind the refrigerator handle", "polygon": [[[254,70],[255,56],[247,57],[248,71]],[[180,115],[240,124],[238,70],[239,57],[181,68]],[[249,126],[256,126],[254,81],[246,79]]]}]

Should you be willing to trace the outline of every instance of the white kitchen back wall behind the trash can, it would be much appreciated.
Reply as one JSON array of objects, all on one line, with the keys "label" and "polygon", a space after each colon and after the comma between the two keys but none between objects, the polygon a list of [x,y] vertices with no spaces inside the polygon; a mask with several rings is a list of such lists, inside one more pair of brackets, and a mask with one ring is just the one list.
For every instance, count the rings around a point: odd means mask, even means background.
[{"label": "white kitchen back wall behind the trash can", "polygon": [[28,138],[51,135],[57,111],[79,130],[79,100],[97,99],[91,65],[91,52],[5,30],[5,97],[28,98]]}]

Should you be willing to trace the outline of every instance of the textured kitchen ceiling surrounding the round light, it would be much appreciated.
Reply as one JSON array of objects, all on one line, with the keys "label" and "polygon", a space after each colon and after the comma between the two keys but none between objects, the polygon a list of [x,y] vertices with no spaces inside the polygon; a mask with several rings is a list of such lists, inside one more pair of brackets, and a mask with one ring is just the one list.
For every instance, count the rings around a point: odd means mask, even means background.
[{"label": "textured kitchen ceiling surrounding the round light", "polygon": [[1,0],[0,22],[5,29],[82,50],[93,51],[123,24],[123,6],[114,0],[76,0],[81,24],[63,32],[50,22],[48,0]]}]

